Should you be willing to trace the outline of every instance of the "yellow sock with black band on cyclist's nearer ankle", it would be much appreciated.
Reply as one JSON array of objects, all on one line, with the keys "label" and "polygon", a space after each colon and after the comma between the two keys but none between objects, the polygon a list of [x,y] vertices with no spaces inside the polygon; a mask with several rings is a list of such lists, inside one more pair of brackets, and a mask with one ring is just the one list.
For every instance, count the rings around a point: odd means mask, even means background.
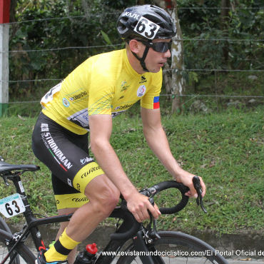
[{"label": "yellow sock with black band on cyclist's nearer ankle", "polygon": [[64,233],[61,234],[56,243],[54,243],[54,245],[52,245],[51,248],[44,253],[46,262],[66,260],[71,250],[73,250],[73,248],[75,248],[79,243],[80,242],[71,239],[66,234],[65,229]]}]

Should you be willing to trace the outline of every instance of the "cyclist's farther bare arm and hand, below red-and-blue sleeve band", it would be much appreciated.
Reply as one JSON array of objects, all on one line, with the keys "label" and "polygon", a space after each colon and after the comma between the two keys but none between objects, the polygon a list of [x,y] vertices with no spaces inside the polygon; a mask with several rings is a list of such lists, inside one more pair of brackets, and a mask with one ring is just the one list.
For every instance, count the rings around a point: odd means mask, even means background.
[{"label": "cyclist's farther bare arm and hand, below red-and-blue sleeve band", "polygon": [[[190,188],[191,192],[186,194],[188,196],[196,196],[196,190],[193,187],[192,181],[194,175],[188,173],[188,171],[184,171],[171,153],[166,133],[161,125],[160,109],[141,108],[141,118],[143,122],[143,133],[148,142],[148,146],[150,146],[153,153],[156,154],[161,163],[163,163],[163,166],[165,166],[176,181]],[[200,184],[203,189],[202,196],[204,196],[205,184],[202,178],[200,178]]]}]

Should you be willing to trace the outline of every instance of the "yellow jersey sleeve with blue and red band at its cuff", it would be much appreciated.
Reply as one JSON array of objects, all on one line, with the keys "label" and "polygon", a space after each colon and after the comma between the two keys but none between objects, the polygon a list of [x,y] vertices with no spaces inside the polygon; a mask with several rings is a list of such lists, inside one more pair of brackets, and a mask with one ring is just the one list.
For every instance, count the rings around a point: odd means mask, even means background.
[{"label": "yellow jersey sleeve with blue and red band at its cuff", "polygon": [[141,107],[148,109],[160,108],[159,98],[162,86],[162,71],[153,73],[150,88],[143,98],[141,98]]}]

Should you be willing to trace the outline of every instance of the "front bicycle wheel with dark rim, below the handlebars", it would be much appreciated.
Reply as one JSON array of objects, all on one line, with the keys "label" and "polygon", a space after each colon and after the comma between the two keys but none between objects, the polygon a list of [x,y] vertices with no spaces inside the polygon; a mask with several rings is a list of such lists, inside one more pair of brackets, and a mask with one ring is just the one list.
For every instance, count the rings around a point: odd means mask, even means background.
[{"label": "front bicycle wheel with dark rim, below the handlebars", "polygon": [[[149,250],[154,250],[154,263],[164,264],[199,264],[199,263],[213,263],[213,264],[228,264],[227,260],[220,254],[217,254],[214,248],[203,240],[187,235],[181,232],[162,231],[158,232],[161,239],[156,240],[152,246],[148,246]],[[154,248],[155,249],[154,249]],[[128,245],[124,252],[120,252],[116,264],[140,264],[141,259],[134,250],[133,243]],[[162,259],[162,260],[161,260]]]}]

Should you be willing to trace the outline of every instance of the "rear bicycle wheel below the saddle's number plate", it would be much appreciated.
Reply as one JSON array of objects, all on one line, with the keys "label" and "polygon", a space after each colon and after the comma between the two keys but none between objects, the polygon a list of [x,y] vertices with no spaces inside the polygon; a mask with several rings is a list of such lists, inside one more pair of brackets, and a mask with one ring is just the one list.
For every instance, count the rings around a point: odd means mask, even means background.
[{"label": "rear bicycle wheel below the saddle's number plate", "polygon": [[[12,238],[11,233],[0,229],[0,263],[4,260],[6,253],[9,250],[9,248],[6,245],[6,240],[10,240],[11,238]],[[17,255],[17,257],[14,259],[12,263],[16,264],[17,258],[19,258],[19,262],[21,264],[24,264],[24,263],[34,264],[35,263],[36,257],[26,245],[24,244],[17,245],[16,252],[19,255]],[[6,263],[9,263],[9,260],[6,261]]]}]

